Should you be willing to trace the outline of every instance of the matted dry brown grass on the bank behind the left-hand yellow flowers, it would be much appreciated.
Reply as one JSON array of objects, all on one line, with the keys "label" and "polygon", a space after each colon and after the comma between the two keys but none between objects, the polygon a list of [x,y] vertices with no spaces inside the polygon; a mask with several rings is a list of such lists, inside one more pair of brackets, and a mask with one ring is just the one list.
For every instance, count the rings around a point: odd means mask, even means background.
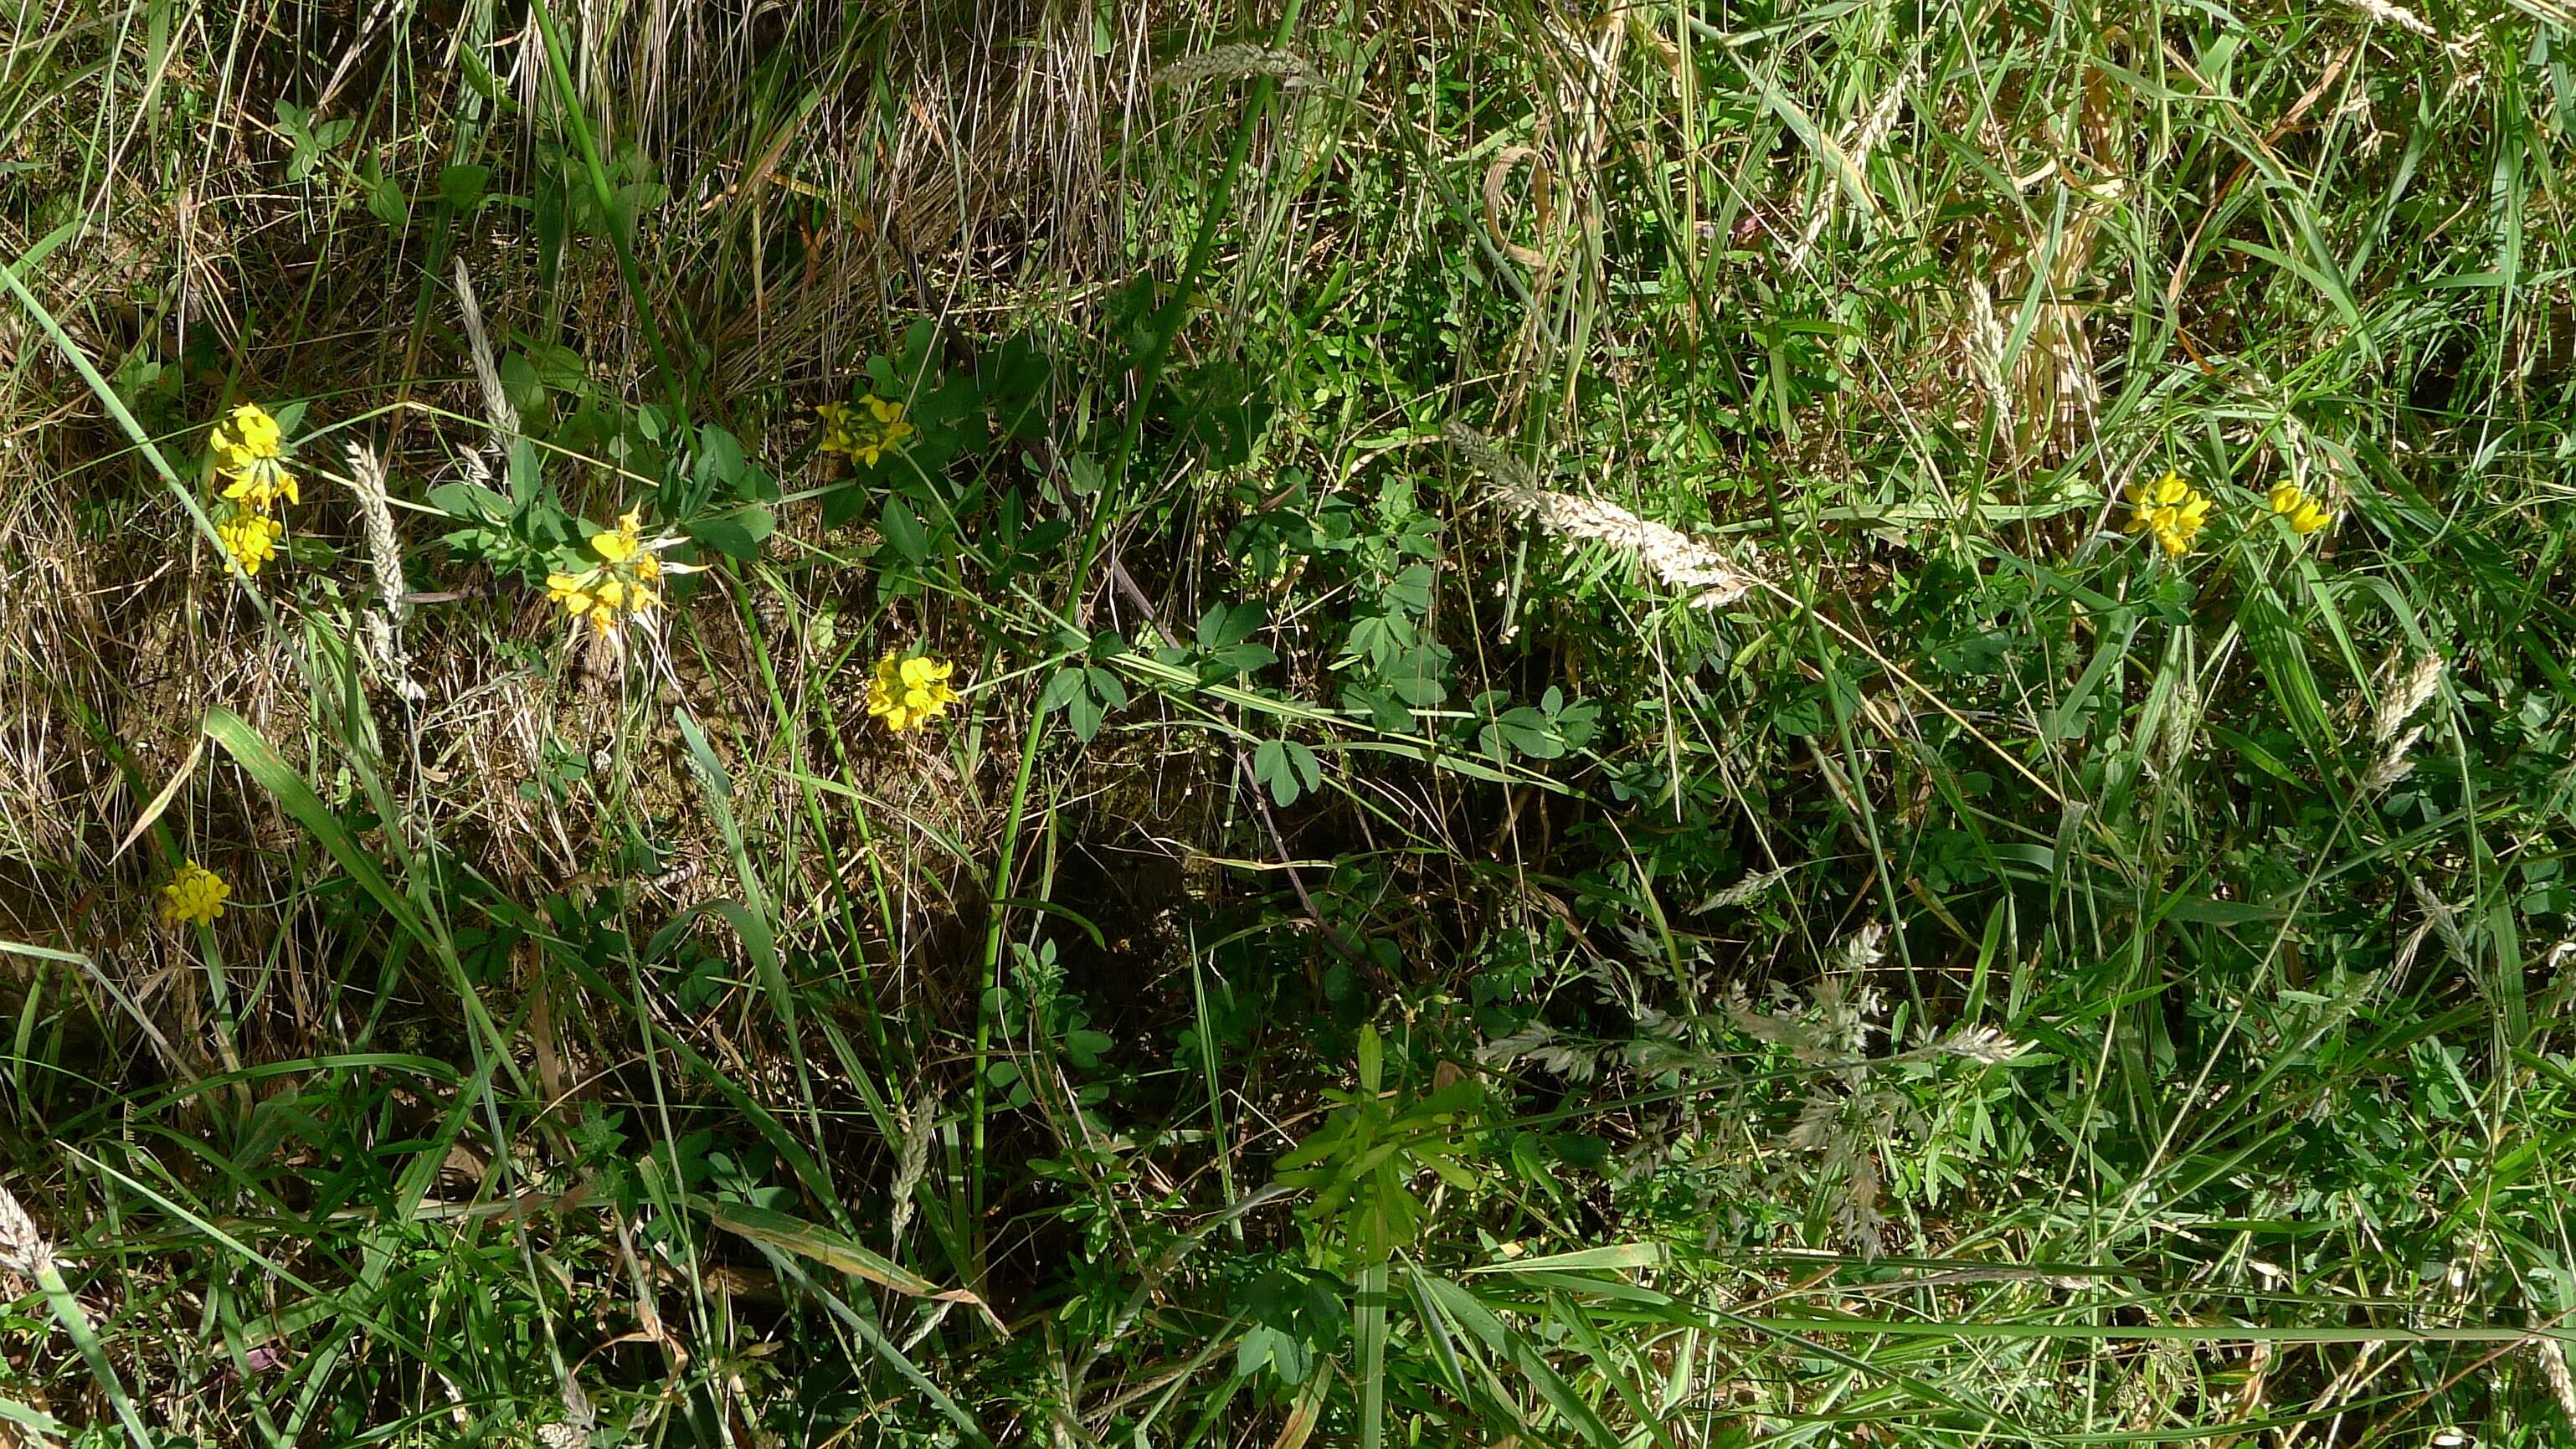
[{"label": "matted dry brown grass on the bank behind the left-hand yellow flowers", "polygon": [[[886,345],[894,317],[1061,309],[1066,283],[1110,275],[1126,201],[1121,178],[1105,170],[1105,136],[1141,124],[1136,108],[1149,100],[1144,75],[1154,64],[1149,21],[1144,10],[1115,13],[1110,46],[1097,54],[1084,15],[1038,3],[889,21],[866,46],[845,44],[840,18],[824,8],[744,18],[734,5],[683,3],[652,8],[616,33],[582,33],[567,13],[580,49],[574,80],[603,149],[616,162],[621,147],[641,142],[670,188],[639,237],[654,257],[652,306],[675,335],[703,345],[711,396],[755,453],[799,445],[793,427],[762,438],[757,420],[801,417],[801,394]],[[484,438],[456,417],[495,409],[474,381],[453,291],[425,283],[425,257],[368,219],[348,165],[371,154],[415,196],[435,198],[435,172],[453,157],[430,144],[428,129],[407,129],[384,108],[397,82],[399,116],[482,111],[487,126],[495,116],[461,85],[448,46],[407,51],[368,5],[304,5],[278,23],[245,23],[237,44],[211,46],[214,64],[204,59],[209,46],[185,49],[191,59],[162,75],[162,88],[216,106],[193,144],[134,131],[98,142],[118,165],[85,190],[90,226],[36,273],[39,296],[111,376],[139,350],[188,358],[173,394],[134,399],[180,468],[201,453],[204,422],[222,399],[312,396],[307,427],[412,404],[392,425],[355,430],[384,448],[410,587],[461,595],[404,610],[399,638],[422,687],[417,705],[381,690],[386,669],[374,672],[368,731],[412,811],[399,829],[456,852],[513,898],[590,880],[621,821],[541,788],[549,757],[569,754],[608,767],[603,777],[623,775],[616,798],[672,852],[672,867],[641,888],[647,914],[719,893],[724,852],[696,808],[672,713],[685,708],[706,723],[734,770],[744,829],[765,839],[806,831],[793,757],[804,749],[809,764],[827,759],[832,741],[791,739],[811,728],[811,710],[788,700],[791,718],[778,718],[721,595],[703,597],[667,636],[659,667],[639,659],[621,669],[567,649],[559,615],[538,597],[425,546],[438,525],[404,504],[464,476],[469,458],[489,458]],[[289,28],[299,44],[286,44]],[[453,36],[479,41],[487,36]],[[116,41],[93,23],[54,28],[49,44],[62,62],[106,59]],[[106,85],[134,82],[134,46],[139,39],[121,51],[124,80]],[[799,46],[819,57],[806,72],[811,90],[747,103],[762,57]],[[551,111],[533,28],[495,54],[505,95]],[[100,85],[59,93],[52,116],[18,116],[23,134],[52,142],[28,149],[77,157],[75,118],[134,113],[134,93]],[[281,98],[319,98],[317,121],[358,121],[355,139],[312,183],[286,180],[294,144],[273,111]],[[152,185],[137,170],[144,157],[165,165]],[[502,118],[482,160],[502,178],[495,185],[526,183],[536,136],[523,118]],[[23,252],[62,221],[31,201],[64,180],[0,183],[0,247]],[[453,255],[482,293],[497,347],[551,335],[585,360],[600,391],[649,394],[634,309],[603,245],[572,245],[549,281],[526,214],[487,208],[453,232]],[[0,350],[0,409],[18,420],[0,448],[0,934],[88,950],[144,1011],[167,1014],[173,1050],[191,1058],[170,1066],[204,1071],[219,1053],[204,988],[165,939],[137,929],[157,883],[152,852],[118,854],[116,844],[144,800],[191,762],[209,705],[250,718],[325,793],[348,788],[335,780],[340,746],[330,744],[332,721],[312,718],[307,705],[304,641],[270,633],[240,602],[219,558],[188,540],[185,517],[80,378],[15,314]],[[317,445],[304,463],[343,471],[337,453]],[[562,471],[559,486],[595,517],[626,494],[603,471]],[[371,530],[368,510],[343,486],[312,479],[294,525],[340,551],[343,589],[358,600],[371,592],[368,533],[381,528]],[[294,569],[263,582],[281,592],[314,584]],[[755,605],[775,620],[855,602],[814,582],[796,587],[806,597],[786,610],[783,600]],[[927,636],[940,628],[935,615],[920,620]],[[804,687],[811,661],[783,659],[778,677]],[[860,723],[860,685],[829,687],[842,728]],[[1007,741],[997,734],[984,759],[997,759],[994,746]],[[884,870],[899,939],[876,950],[904,973],[945,973],[961,960],[961,921],[981,911],[976,872],[999,831],[999,788],[943,777],[943,762],[855,734],[842,749],[855,752],[868,811],[886,824],[876,847],[860,847],[853,816],[835,808],[832,836],[809,842],[809,860],[817,872]],[[131,770],[116,764],[118,752]],[[193,759],[193,772],[165,824],[234,883],[240,901],[294,898],[307,870],[296,831],[227,767]],[[824,880],[806,885],[819,901]],[[811,919],[814,909],[788,903],[788,914]],[[265,1027],[247,1024],[250,1037],[273,1037],[276,1050],[330,1037],[327,963],[296,957],[307,939],[299,924],[242,911],[232,932],[234,950],[286,965],[278,991],[263,996]],[[925,996],[956,986],[904,983]]]}]

